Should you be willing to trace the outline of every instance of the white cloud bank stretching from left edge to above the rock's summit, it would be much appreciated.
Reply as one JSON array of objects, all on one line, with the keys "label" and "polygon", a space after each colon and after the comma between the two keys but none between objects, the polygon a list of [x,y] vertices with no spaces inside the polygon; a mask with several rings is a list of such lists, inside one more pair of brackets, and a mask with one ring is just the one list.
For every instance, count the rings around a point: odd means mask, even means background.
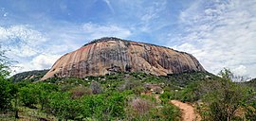
[{"label": "white cloud bank stretching from left edge to above the rock's summit", "polygon": [[119,26],[93,23],[62,24],[43,29],[44,32],[33,26],[0,26],[2,48],[9,50],[7,56],[10,59],[19,62],[14,63],[17,66],[13,68],[15,73],[50,68],[61,55],[93,39],[105,36],[126,38],[131,35],[130,30]]}]

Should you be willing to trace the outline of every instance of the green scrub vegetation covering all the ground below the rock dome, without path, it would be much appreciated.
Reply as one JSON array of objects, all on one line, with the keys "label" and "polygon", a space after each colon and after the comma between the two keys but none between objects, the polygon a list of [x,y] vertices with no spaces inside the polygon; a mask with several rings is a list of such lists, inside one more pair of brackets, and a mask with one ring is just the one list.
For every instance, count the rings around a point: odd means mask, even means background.
[{"label": "green scrub vegetation covering all the ground below the rock dome, without path", "polygon": [[[25,74],[20,77],[27,77]],[[180,120],[180,111],[170,104],[177,99],[194,104],[202,120],[256,120],[255,86],[247,84],[254,80],[232,82],[229,69],[219,76],[119,73],[45,81],[24,78],[13,83],[8,78],[9,67],[1,63],[0,119]]]}]

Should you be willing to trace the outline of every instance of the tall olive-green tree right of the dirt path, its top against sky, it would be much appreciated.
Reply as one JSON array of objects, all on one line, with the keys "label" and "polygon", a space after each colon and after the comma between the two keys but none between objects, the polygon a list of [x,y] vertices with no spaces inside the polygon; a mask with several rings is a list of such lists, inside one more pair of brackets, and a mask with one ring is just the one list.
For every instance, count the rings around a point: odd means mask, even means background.
[{"label": "tall olive-green tree right of the dirt path, its top against sky", "polygon": [[247,100],[247,88],[232,82],[233,74],[227,68],[219,73],[222,78],[218,81],[208,82],[210,90],[205,92],[207,102],[210,102],[210,114],[214,120],[229,121],[234,118],[235,111],[243,107]]}]

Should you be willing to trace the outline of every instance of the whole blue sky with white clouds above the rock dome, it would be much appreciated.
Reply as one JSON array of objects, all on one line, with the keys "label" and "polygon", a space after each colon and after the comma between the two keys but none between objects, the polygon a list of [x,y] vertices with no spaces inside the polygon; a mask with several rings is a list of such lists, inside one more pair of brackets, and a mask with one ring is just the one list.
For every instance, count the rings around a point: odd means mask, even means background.
[{"label": "whole blue sky with white clouds above the rock dome", "polygon": [[15,72],[50,68],[114,36],[191,53],[211,73],[256,78],[255,0],[0,0],[0,44]]}]

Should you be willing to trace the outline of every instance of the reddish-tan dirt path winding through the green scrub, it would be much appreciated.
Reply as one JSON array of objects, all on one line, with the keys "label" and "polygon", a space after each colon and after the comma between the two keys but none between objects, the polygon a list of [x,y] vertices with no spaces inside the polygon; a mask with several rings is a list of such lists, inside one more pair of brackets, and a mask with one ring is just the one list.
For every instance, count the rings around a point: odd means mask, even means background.
[{"label": "reddish-tan dirt path winding through the green scrub", "polygon": [[171,103],[173,103],[174,106],[178,107],[181,110],[183,121],[200,121],[201,120],[200,117],[197,117],[196,113],[193,111],[192,105],[183,103],[178,100],[171,100]]}]

